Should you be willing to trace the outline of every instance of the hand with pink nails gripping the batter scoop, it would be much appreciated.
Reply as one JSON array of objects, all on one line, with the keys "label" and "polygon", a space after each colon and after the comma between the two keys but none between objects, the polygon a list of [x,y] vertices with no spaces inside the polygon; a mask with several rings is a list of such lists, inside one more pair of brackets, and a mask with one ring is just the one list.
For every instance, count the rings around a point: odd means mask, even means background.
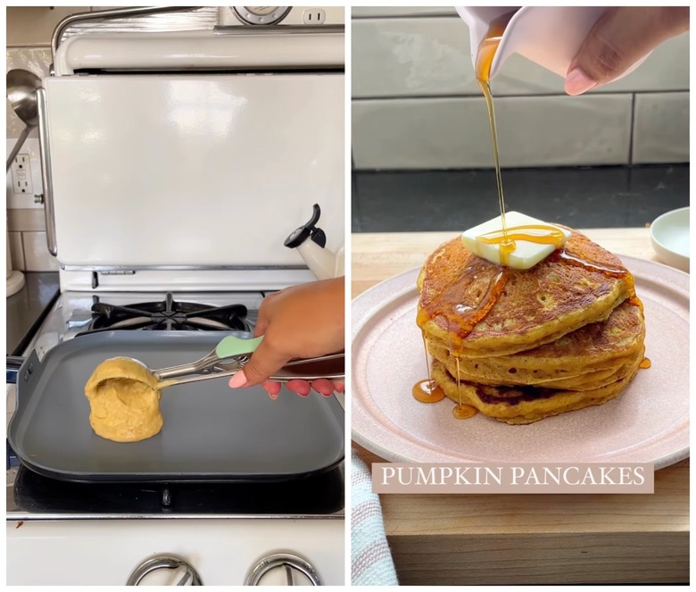
[{"label": "hand with pink nails gripping the batter scoop", "polygon": [[[312,358],[335,354],[345,347],[344,278],[324,279],[280,290],[264,298],[254,336],[263,335],[244,370],[229,380],[231,388],[252,387],[263,383],[271,398],[281,385],[265,382],[274,372],[294,358]],[[310,385],[291,380],[286,386],[307,396],[311,388],[324,396],[342,392],[343,383],[319,379]]]}]

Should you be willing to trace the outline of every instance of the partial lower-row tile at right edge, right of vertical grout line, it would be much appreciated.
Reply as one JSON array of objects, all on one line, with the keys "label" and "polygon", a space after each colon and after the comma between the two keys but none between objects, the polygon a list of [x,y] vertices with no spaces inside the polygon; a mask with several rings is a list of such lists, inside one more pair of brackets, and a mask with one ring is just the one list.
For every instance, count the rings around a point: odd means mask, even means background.
[{"label": "partial lower-row tile at right edge, right of vertical grout line", "polygon": [[635,96],[633,162],[689,162],[689,93]]}]

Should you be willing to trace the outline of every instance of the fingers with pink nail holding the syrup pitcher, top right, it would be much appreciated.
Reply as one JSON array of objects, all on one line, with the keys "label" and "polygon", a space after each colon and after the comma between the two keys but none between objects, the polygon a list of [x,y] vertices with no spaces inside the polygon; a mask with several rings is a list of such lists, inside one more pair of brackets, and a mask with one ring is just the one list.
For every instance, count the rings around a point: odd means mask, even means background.
[{"label": "fingers with pink nail holding the syrup pitcher, top right", "polygon": [[581,95],[616,79],[667,38],[688,28],[688,8],[686,12],[682,8],[647,6],[609,9],[570,63],[566,92]]}]

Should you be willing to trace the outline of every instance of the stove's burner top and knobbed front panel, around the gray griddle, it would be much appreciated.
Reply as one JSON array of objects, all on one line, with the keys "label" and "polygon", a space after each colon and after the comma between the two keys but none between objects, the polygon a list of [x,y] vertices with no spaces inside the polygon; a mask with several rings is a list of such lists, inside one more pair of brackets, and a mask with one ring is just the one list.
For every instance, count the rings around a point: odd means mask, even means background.
[{"label": "stove's burner top and knobbed front panel, around the gray griddle", "polygon": [[[60,343],[114,329],[251,334],[265,295],[66,292],[25,354],[43,358]],[[8,423],[15,405],[8,385]],[[343,583],[344,463],[269,483],[80,483],[30,471],[8,446],[6,518],[8,561],[46,554],[56,561],[53,584]],[[68,547],[57,550],[60,540]],[[105,571],[103,549],[121,544]],[[76,545],[85,566],[79,577],[53,559]],[[38,582],[46,580],[37,571],[8,570],[8,583]]]}]

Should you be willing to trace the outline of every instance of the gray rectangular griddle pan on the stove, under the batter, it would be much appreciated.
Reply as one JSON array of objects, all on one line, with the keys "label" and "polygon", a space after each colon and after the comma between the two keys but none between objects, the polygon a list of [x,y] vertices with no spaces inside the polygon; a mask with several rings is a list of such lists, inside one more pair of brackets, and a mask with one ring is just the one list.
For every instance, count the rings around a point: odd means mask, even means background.
[{"label": "gray rectangular griddle pan on the stove, under the batter", "polygon": [[141,442],[100,438],[89,425],[85,384],[97,364],[128,355],[150,368],[201,358],[223,332],[111,331],[36,352],[17,377],[12,449],[32,471],[72,481],[260,481],[301,478],[344,458],[344,410],[336,397],[287,391],[273,401],[261,387],[227,379],[162,391],[162,431]]}]

